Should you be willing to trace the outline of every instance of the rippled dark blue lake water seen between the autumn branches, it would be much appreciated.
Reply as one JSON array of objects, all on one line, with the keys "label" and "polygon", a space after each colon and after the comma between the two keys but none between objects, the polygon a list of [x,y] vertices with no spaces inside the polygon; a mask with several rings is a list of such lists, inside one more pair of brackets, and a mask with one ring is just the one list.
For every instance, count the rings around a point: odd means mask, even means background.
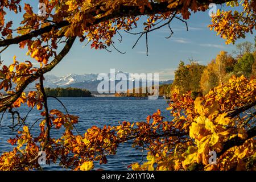
[{"label": "rippled dark blue lake water seen between the autumn branches", "polygon": [[[138,122],[146,121],[147,115],[156,112],[157,109],[162,111],[162,115],[166,119],[171,119],[170,112],[166,110],[168,104],[166,100],[147,100],[138,98],[126,97],[84,97],[84,98],[59,98],[61,102],[67,107],[69,114],[78,115],[79,123],[76,128],[80,134],[92,126],[104,125],[118,125],[118,122],[129,121]],[[61,104],[52,99],[48,99],[49,109],[58,109],[63,112],[64,109]],[[20,107],[19,112],[22,117],[27,114],[29,109],[27,107]],[[36,119],[40,118],[39,111],[33,109],[27,117],[27,125],[31,126]],[[6,113],[2,119],[1,126],[10,125],[11,116]],[[31,130],[32,134],[39,133],[39,123],[37,123]],[[60,136],[61,130],[51,130],[51,136]],[[2,152],[12,150],[13,146],[7,143],[7,139],[14,138],[16,132],[11,131],[8,127],[0,129],[0,154]],[[131,148],[131,143],[122,144],[117,151],[116,155],[108,156],[108,163],[99,165],[95,163],[95,168],[102,168],[105,170],[127,170],[126,166],[134,162],[141,162],[142,152]],[[52,164],[45,166],[46,170],[62,170],[63,168]]]}]

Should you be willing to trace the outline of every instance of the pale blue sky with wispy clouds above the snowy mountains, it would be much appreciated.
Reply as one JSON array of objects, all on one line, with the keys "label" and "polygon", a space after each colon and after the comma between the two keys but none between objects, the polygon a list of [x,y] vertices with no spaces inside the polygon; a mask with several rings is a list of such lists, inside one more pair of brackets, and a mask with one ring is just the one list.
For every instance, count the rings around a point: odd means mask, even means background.
[{"label": "pale blue sky with wispy clouds above the snowy mountains", "polygon": [[[38,11],[37,2],[35,0],[26,1],[34,7],[35,13]],[[21,14],[7,13],[6,19],[14,20],[14,27],[17,27],[20,19],[22,19],[20,16]],[[192,13],[187,20],[189,27],[189,31],[187,31],[183,22],[174,19],[171,22],[174,35],[170,39],[165,38],[170,35],[168,27],[151,32],[148,34],[148,56],[146,55],[146,39],[144,36],[137,46],[132,49],[138,35],[121,32],[123,38],[121,43],[118,42],[119,36],[116,35],[114,45],[120,51],[126,52],[125,54],[115,51],[114,48],[109,48],[112,50],[111,53],[105,49],[91,49],[89,44],[85,46],[86,41],[80,43],[77,39],[68,55],[50,74],[65,76],[69,73],[79,75],[84,73],[109,73],[110,69],[115,69],[116,71],[129,73],[159,73],[160,80],[170,80],[174,78],[174,72],[180,60],[189,63],[189,59],[193,59],[200,64],[207,65],[221,50],[232,53],[235,49],[233,44],[226,45],[224,39],[216,36],[216,32],[209,30],[207,26],[210,24],[210,20],[208,11]],[[141,26],[133,30],[133,32],[140,31],[142,31]],[[253,43],[254,35],[247,34],[245,39],[237,40],[236,43],[245,41]],[[14,55],[17,60],[30,60],[35,63],[35,60],[26,56],[26,52],[26,49],[19,49],[18,45],[12,45],[1,54],[1,57],[4,64],[7,65],[13,63]]]}]

